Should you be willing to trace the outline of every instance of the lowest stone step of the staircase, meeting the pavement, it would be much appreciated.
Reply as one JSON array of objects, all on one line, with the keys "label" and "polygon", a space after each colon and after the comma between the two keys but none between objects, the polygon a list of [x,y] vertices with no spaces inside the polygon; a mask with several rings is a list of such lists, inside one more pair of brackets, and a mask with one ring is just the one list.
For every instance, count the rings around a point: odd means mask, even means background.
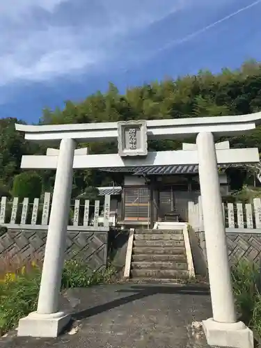
[{"label": "lowest stone step of the staircase, meeting the pavement", "polygon": [[175,269],[131,269],[132,278],[154,278],[154,279],[187,279],[189,271],[177,271]]}]

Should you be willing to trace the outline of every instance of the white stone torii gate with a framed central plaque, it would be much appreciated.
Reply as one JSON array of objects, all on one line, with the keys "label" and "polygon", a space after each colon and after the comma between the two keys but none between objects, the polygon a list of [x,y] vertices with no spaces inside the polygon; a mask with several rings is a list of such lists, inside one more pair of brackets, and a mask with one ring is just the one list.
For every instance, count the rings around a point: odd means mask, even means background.
[{"label": "white stone torii gate with a framed central plaque", "polygon": [[[18,335],[55,337],[70,315],[58,307],[65,235],[75,168],[198,164],[213,318],[203,322],[209,345],[252,348],[253,333],[237,322],[217,164],[255,163],[258,149],[215,148],[215,136],[244,134],[261,124],[261,113],[244,116],[104,122],[79,125],[15,125],[29,141],[59,144],[47,155],[23,156],[21,168],[56,169],[45,260],[35,313],[19,320]],[[196,138],[196,149],[148,152],[148,139]],[[77,143],[118,139],[118,154],[86,155]],[[191,150],[192,149],[192,150]],[[62,203],[62,204],[61,204]]]}]

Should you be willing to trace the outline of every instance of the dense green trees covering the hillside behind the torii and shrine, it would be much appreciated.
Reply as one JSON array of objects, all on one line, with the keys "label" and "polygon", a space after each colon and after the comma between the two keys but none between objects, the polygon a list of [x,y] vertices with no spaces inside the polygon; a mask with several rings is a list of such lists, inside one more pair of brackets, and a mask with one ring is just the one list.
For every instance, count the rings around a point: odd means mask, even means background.
[{"label": "dense green trees covering the hillside behind the torii and shrine", "polygon": [[[164,81],[154,81],[141,87],[129,88],[125,95],[109,84],[107,93],[97,92],[82,102],[65,102],[63,110],[45,109],[40,124],[108,122],[131,119],[190,118],[201,116],[243,115],[261,109],[261,64],[244,63],[239,70],[223,69],[220,74],[200,71],[197,75]],[[20,172],[22,154],[45,153],[45,148],[24,141],[15,131],[13,118],[0,120],[0,184],[9,190],[13,177]],[[222,139],[221,139],[222,140]],[[230,139],[235,147],[261,148],[261,127],[244,136]],[[90,143],[91,153],[114,152],[116,143]],[[150,149],[180,148],[179,141],[151,141]],[[39,172],[43,189],[52,188],[54,173]],[[88,186],[120,184],[120,174],[100,171],[74,171],[73,196]]]}]

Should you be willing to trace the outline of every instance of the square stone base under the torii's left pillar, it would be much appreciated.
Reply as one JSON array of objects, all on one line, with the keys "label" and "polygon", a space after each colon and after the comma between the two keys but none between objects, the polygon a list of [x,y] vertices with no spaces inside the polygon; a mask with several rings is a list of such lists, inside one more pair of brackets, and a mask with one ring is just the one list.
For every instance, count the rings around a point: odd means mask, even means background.
[{"label": "square stone base under the torii's left pillar", "polygon": [[19,319],[17,336],[55,338],[70,322],[70,315],[64,312],[52,314],[30,313]]}]

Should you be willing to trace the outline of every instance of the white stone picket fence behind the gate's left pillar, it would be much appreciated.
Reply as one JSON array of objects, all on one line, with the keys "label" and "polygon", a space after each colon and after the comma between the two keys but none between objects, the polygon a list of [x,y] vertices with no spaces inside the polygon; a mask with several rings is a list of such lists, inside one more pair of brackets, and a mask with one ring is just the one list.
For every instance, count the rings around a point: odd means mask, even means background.
[{"label": "white stone picket fence behind the gate's left pillar", "polygon": [[[100,200],[95,200],[93,219],[90,220],[90,201],[84,200],[84,206],[80,205],[80,200],[74,201],[74,214],[72,218],[72,226],[78,228],[84,226],[85,228],[98,228],[103,226],[104,228],[109,228],[109,225],[116,226],[116,214],[110,212],[111,196],[104,196],[104,205],[100,207]],[[42,204],[42,214],[39,216],[40,201],[39,198],[34,198],[33,204],[29,203],[29,198],[24,198],[22,203],[19,203],[17,197],[13,198],[13,202],[8,202],[6,197],[1,197],[1,207],[0,207],[0,226],[6,226],[8,228],[15,228],[15,226],[34,226],[39,228],[39,226],[48,226],[49,223],[49,213],[51,210],[51,193],[46,192],[45,198]],[[61,202],[63,204],[63,202]],[[11,213],[9,214],[9,221],[7,221],[8,216],[6,216],[7,207],[11,205]],[[22,209],[21,209],[22,205]],[[10,208],[10,207],[8,207]],[[100,208],[102,209],[102,214],[100,214]],[[10,210],[9,210],[10,211]],[[80,213],[83,216],[80,216]],[[29,221],[30,214],[30,221]],[[40,218],[40,223],[39,223]],[[68,216],[69,220],[69,216]],[[81,224],[79,221],[81,220]],[[37,225],[38,223],[38,225]]]}]

